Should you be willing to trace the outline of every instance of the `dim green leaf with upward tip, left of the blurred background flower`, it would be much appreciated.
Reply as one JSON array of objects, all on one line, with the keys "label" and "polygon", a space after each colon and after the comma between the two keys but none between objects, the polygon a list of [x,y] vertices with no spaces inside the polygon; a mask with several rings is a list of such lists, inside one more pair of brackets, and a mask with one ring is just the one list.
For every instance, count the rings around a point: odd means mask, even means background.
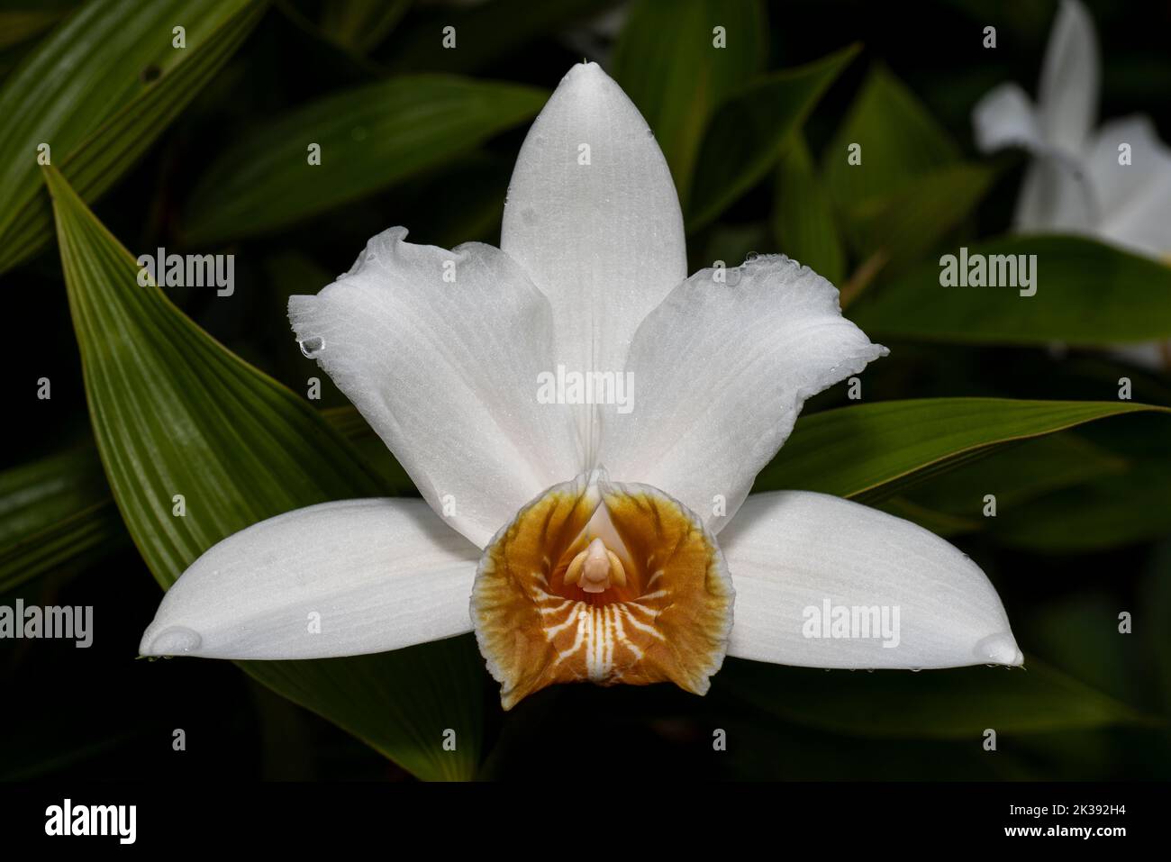
[{"label": "dim green leaf with upward tip, left of the blurred background flower", "polygon": [[[847,162],[862,148],[861,164]],[[959,160],[959,149],[918,97],[876,64],[822,156],[822,175],[848,214],[874,206],[938,167]]]}]

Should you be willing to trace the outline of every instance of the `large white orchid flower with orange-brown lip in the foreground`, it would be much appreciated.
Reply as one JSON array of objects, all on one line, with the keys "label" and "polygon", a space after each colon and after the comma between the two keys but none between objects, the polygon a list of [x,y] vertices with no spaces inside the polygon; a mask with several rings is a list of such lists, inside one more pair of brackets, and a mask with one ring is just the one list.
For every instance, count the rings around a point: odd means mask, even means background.
[{"label": "large white orchid flower with orange-brown lip in the foreground", "polygon": [[[500,249],[405,235],[375,237],[289,309],[424,500],[237,533],[166,594],[144,655],[350,656],[474,629],[505,709],[573,680],[704,693],[725,655],[1022,662],[995,589],[947,542],[824,494],[748,497],[802,402],[885,349],[788,258],[686,278],[666,163],[596,64],[534,122]],[[559,365],[629,372],[632,409],[541,403]],[[827,604],[892,608],[896,636],[810,632]]]}]

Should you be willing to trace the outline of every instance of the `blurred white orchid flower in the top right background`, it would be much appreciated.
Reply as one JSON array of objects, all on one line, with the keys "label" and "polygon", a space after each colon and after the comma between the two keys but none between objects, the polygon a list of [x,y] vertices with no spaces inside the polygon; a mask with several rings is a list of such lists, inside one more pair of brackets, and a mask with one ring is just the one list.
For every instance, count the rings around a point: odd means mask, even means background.
[{"label": "blurred white orchid flower in the top right background", "polygon": [[[994,88],[972,115],[977,145],[985,152],[1020,146],[1033,156],[1016,201],[1018,231],[1083,234],[1171,262],[1171,149],[1146,116],[1095,129],[1098,80],[1094,21],[1077,0],[1062,0],[1036,105],[1016,84]],[[1171,367],[1164,342],[1124,355]]]}]

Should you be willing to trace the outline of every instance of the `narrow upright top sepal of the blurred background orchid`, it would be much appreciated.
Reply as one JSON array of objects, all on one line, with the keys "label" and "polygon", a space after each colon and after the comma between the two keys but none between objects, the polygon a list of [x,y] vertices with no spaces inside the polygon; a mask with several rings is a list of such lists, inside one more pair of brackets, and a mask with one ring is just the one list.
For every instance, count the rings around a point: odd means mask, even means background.
[{"label": "narrow upright top sepal of the blurred background orchid", "polygon": [[1094,21],[1077,0],[1062,0],[1045,49],[1038,118],[1045,138],[1068,153],[1080,153],[1094,128],[1098,78]]}]

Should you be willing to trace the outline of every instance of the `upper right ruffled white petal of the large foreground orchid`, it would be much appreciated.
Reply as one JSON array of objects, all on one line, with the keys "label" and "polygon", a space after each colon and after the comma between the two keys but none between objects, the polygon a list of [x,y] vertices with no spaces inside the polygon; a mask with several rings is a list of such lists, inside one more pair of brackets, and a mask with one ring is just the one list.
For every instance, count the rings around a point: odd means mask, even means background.
[{"label": "upper right ruffled white petal of the large foreground orchid", "polygon": [[785,255],[700,271],[639,327],[630,404],[607,406],[600,461],[719,531],[804,399],[885,353],[842,317],[833,285]]}]

